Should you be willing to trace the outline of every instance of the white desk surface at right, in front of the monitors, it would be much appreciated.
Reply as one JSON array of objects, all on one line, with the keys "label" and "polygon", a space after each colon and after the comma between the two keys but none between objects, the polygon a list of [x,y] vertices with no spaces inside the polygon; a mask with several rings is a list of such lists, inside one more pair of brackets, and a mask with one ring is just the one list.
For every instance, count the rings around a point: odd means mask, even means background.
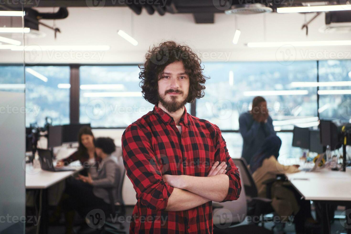
[{"label": "white desk surface at right, in front of the monitors", "polygon": [[300,171],[286,177],[306,200],[351,201],[351,170]]}]

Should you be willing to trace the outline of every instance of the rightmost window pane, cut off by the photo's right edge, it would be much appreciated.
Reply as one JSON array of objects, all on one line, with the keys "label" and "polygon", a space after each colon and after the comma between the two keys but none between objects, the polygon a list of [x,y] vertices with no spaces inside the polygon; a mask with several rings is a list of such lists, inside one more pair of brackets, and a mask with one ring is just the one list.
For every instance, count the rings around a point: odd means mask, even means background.
[{"label": "rightmost window pane, cut off by the photo's right edge", "polygon": [[351,122],[351,60],[319,61],[319,116]]}]

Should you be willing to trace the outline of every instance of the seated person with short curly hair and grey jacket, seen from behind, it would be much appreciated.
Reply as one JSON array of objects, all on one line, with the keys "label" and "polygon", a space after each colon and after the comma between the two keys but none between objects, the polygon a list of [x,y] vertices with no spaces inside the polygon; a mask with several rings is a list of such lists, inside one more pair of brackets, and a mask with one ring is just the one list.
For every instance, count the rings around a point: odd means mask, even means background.
[{"label": "seated person with short curly hair and grey jacket, seen from behind", "polygon": [[[93,209],[101,209],[105,215],[110,214],[110,200],[106,188],[112,187],[114,200],[117,198],[117,190],[120,180],[120,171],[117,158],[111,155],[116,146],[111,138],[97,138],[95,151],[101,162],[92,162],[88,176],[79,175],[72,179],[66,186],[66,193],[70,199],[65,200],[66,212],[75,210],[85,219]],[[72,233],[74,214],[66,216],[66,233]],[[82,229],[89,229],[85,224]]]}]

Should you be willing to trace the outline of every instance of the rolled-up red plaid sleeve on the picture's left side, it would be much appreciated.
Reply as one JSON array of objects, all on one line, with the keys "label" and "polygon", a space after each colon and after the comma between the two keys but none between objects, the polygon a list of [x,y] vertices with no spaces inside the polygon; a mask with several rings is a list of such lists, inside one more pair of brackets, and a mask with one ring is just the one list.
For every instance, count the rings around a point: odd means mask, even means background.
[{"label": "rolled-up red plaid sleeve on the picture's left side", "polygon": [[137,199],[149,209],[164,210],[173,187],[162,179],[148,134],[137,125],[126,128],[122,135],[123,163]]}]

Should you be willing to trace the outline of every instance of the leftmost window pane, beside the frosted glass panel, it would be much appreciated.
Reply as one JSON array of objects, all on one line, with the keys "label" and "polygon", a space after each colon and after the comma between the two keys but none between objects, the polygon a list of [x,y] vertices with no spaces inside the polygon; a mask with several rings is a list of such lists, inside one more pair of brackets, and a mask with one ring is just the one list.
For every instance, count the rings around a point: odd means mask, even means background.
[{"label": "leftmost window pane, beside the frosted glass panel", "polygon": [[[23,69],[23,68],[22,68]],[[26,126],[69,123],[69,66],[26,66]]]}]

